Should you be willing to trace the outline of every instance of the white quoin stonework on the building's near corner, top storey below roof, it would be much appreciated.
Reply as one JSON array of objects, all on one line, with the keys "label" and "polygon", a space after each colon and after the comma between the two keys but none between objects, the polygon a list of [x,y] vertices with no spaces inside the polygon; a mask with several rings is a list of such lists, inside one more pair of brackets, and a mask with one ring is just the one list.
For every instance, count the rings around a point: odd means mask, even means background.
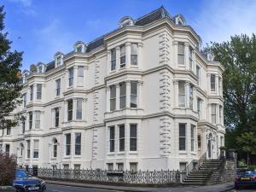
[{"label": "white quoin stonework on the building's near corner, top storey below roof", "polygon": [[162,32],[159,36],[160,38],[160,48],[159,48],[159,58],[160,58],[160,65],[168,64],[170,61],[170,37],[167,32]]}]

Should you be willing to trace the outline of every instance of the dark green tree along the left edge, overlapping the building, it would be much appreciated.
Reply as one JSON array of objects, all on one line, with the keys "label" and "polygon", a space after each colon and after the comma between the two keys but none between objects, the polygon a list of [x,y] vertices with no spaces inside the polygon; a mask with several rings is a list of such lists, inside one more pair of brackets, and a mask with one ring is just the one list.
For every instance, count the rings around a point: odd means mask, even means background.
[{"label": "dark green tree along the left edge, overlapping the building", "polygon": [[3,6],[0,6],[0,129],[18,124],[19,116],[12,111],[20,104],[20,67],[22,52],[12,51],[4,32]]}]

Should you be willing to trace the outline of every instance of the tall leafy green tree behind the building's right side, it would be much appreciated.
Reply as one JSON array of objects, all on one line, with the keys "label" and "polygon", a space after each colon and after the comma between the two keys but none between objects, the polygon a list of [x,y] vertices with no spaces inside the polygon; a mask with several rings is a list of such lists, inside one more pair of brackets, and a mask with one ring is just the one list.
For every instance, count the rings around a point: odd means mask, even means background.
[{"label": "tall leafy green tree behind the building's right side", "polygon": [[[211,43],[203,52],[212,52],[214,60],[224,65],[224,124],[227,148],[242,154],[236,137],[256,131],[256,38],[253,34],[231,37],[221,44]],[[235,139],[234,139],[235,138]]]}]

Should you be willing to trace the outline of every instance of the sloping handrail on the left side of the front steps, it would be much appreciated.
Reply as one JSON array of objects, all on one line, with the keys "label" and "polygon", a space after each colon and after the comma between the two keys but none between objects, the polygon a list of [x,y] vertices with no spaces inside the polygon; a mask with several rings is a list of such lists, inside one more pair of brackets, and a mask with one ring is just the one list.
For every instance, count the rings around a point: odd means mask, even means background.
[{"label": "sloping handrail on the left side of the front steps", "polygon": [[191,160],[189,165],[186,166],[182,172],[180,172],[181,182],[183,182],[183,179],[187,177],[191,171],[199,169],[205,160],[207,160],[207,151],[201,155],[199,160]]}]

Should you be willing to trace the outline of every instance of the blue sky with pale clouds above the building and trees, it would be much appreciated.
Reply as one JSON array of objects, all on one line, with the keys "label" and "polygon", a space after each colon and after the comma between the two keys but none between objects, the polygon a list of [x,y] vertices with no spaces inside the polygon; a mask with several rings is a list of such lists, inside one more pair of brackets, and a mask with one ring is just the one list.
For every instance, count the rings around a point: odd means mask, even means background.
[{"label": "blue sky with pale clouds above the building and trees", "polygon": [[0,0],[12,49],[24,51],[22,70],[49,63],[57,51],[73,50],[118,27],[126,15],[137,19],[163,5],[182,14],[202,43],[223,42],[235,34],[256,33],[256,0]]}]

